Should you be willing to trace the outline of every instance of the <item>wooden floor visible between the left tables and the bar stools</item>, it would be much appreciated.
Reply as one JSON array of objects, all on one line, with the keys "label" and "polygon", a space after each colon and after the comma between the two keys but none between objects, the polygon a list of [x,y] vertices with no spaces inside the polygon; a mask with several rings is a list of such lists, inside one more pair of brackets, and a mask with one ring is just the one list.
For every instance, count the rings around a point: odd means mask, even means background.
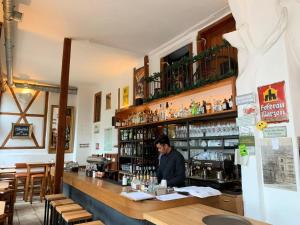
[{"label": "wooden floor visible between the left tables and the bar stools", "polygon": [[42,225],[44,221],[44,202],[18,201],[15,204],[14,225]]}]

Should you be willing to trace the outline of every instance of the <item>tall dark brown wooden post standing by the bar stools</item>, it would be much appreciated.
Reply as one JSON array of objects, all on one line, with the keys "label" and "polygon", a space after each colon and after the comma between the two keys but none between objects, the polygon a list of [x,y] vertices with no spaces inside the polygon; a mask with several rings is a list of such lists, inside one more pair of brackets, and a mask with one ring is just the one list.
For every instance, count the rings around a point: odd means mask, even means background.
[{"label": "tall dark brown wooden post standing by the bar stools", "polygon": [[65,142],[66,142],[66,112],[69,89],[69,70],[71,59],[71,39],[64,39],[64,50],[61,67],[58,132],[56,144],[56,163],[54,176],[54,193],[61,192],[61,182],[64,170]]}]

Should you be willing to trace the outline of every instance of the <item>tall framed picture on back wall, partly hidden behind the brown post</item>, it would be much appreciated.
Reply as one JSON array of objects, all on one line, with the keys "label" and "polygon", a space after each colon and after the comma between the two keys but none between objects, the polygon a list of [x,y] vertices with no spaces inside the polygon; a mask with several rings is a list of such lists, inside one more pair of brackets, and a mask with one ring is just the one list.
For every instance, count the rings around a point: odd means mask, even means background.
[{"label": "tall framed picture on back wall, partly hidden behind the brown post", "polygon": [[[74,107],[68,106],[66,113],[66,137],[65,152],[73,152],[74,145]],[[57,133],[58,133],[58,112],[57,105],[51,106],[50,130],[49,130],[49,153],[56,153]]]}]

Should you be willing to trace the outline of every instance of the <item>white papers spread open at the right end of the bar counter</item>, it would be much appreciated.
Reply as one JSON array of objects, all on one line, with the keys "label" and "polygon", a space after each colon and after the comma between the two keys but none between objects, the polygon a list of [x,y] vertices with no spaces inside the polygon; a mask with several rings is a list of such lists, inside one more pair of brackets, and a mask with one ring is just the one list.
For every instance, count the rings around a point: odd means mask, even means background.
[{"label": "white papers spread open at the right end of the bar counter", "polygon": [[174,188],[174,191],[188,192],[190,195],[193,195],[198,198],[207,198],[207,197],[222,194],[219,190],[211,188],[211,187],[197,187],[197,186]]}]

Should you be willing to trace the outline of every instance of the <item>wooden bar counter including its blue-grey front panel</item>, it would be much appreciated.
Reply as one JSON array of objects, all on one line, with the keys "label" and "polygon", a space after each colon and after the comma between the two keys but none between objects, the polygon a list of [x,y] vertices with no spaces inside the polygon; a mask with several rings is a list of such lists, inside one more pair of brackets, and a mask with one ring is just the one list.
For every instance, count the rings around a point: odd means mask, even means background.
[{"label": "wooden bar counter including its blue-grey front panel", "polygon": [[[96,218],[104,220],[106,225],[119,224],[117,221],[110,221],[117,216],[124,217],[121,224],[127,224],[125,219],[128,219],[128,224],[147,224],[143,218],[144,213],[197,203],[213,206],[218,200],[218,197],[205,199],[188,197],[165,202],[159,200],[135,202],[120,195],[122,186],[87,177],[84,173],[65,172],[63,182],[65,194],[94,215],[98,213]],[[95,204],[100,204],[98,209]]]}]

